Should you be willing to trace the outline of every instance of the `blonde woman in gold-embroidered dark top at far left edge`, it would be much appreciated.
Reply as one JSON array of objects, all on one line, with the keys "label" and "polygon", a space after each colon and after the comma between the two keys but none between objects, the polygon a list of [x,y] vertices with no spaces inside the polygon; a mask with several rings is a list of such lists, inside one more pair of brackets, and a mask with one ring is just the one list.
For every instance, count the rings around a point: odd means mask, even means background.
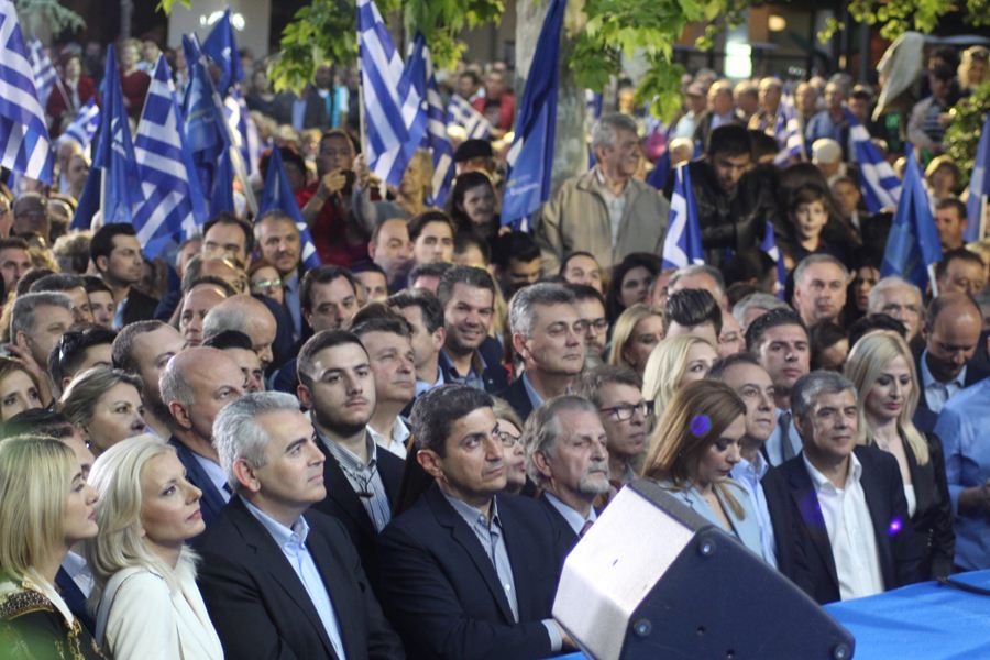
[{"label": "blonde woman in gold-embroidered dark top at far left edge", "polygon": [[69,548],[97,534],[96,502],[96,491],[67,444],[31,436],[0,442],[3,658],[103,657],[55,590]]}]

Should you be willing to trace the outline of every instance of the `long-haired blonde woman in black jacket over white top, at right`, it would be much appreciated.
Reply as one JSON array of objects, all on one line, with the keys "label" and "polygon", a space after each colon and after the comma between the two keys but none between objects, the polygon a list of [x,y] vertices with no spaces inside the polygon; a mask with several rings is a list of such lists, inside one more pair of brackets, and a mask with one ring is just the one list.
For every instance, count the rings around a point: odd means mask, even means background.
[{"label": "long-haired blonde woman in black jacket over white top, at right", "polygon": [[858,392],[866,424],[859,441],[893,454],[901,468],[908,513],[915,532],[927,539],[923,571],[942,578],[953,571],[956,536],[942,442],[911,421],[921,396],[914,356],[897,332],[871,332],[853,348],[846,377]]}]

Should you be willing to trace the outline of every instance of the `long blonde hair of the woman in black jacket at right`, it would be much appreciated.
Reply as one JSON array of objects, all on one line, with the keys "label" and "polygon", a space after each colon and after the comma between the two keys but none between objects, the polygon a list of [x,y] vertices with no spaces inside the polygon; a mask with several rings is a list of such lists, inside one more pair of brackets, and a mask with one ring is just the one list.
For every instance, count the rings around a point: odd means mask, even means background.
[{"label": "long blonde hair of the woman in black jacket at right", "polygon": [[[890,330],[870,332],[856,342],[849,352],[849,358],[846,360],[846,377],[856,386],[860,420],[865,420],[866,399],[870,389],[877,384],[877,378],[880,377],[883,370],[898,358],[904,359],[908,372],[911,374],[912,385],[898,416],[898,430],[914,453],[917,464],[926,465],[928,463],[928,443],[912,421],[921,396],[921,386],[914,366],[914,356],[908,342],[900,334]],[[873,435],[868,427],[867,424],[859,426],[858,440],[860,444],[873,444]]]}]

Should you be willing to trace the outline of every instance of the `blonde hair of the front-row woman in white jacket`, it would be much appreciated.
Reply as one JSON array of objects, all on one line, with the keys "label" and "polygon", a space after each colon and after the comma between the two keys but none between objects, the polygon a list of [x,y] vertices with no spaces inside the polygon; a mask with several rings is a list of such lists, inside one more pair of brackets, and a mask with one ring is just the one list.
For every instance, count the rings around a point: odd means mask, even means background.
[{"label": "blonde hair of the front-row woman in white jacket", "polygon": [[175,449],[148,433],[128,438],[105,451],[92,464],[89,483],[100,494],[97,503],[96,538],[86,541],[86,562],[92,572],[91,603],[99,603],[107,582],[123,569],[143,566],[165,579],[172,592],[179,590],[176,574],[182,564],[195,561],[184,550],[180,566],[173,569],[151,548],[142,535],[142,482],[148,462]]}]

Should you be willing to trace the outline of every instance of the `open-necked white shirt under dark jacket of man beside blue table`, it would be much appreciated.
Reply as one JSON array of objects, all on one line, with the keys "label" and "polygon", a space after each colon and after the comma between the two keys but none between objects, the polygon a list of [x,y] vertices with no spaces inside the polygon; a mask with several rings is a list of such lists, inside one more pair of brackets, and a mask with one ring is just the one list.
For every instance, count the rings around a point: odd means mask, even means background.
[{"label": "open-necked white shirt under dark jacket of man beside blue table", "polygon": [[870,509],[866,504],[860,477],[862,464],[849,454],[849,472],[844,488],[836,488],[828,479],[801,454],[818,496],[825,519],[835,572],[843,601],[872,596],[883,592],[883,573],[877,553],[877,537]]}]

